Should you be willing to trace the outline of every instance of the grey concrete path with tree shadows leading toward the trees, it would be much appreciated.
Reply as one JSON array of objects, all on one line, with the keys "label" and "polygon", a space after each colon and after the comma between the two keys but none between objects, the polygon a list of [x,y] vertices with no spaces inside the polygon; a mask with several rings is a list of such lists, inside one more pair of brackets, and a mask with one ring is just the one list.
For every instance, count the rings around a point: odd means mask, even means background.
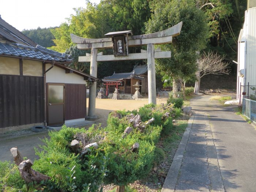
[{"label": "grey concrete path with tree shadows leading toward the trees", "polygon": [[195,117],[188,142],[183,154],[177,151],[180,154],[175,155],[183,157],[178,177],[176,183],[171,181],[171,166],[162,192],[256,191],[256,130],[232,106],[209,98],[192,99]]}]

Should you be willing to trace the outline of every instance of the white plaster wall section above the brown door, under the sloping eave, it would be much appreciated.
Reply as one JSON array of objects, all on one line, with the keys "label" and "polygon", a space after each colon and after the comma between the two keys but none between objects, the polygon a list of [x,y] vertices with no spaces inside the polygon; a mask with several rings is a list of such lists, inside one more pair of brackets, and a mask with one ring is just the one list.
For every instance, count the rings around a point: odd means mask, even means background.
[{"label": "white plaster wall section above the brown door, under the sloping eave", "polygon": [[[46,70],[52,67],[51,64],[46,64]],[[65,69],[54,66],[46,73],[46,83],[73,83],[85,84],[82,76],[76,74],[66,74]]]}]

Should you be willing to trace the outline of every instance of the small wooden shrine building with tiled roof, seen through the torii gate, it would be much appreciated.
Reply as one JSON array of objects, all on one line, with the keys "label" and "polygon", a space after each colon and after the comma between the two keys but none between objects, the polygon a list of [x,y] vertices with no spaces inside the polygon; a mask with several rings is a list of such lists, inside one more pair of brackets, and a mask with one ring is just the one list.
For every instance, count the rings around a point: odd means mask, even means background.
[{"label": "small wooden shrine building with tiled roof, seen through the torii gate", "polygon": [[135,93],[135,86],[138,81],[141,85],[140,93],[148,93],[148,82],[147,82],[147,65],[136,65],[132,72],[129,73],[115,73],[111,76],[107,76],[102,79],[106,85],[106,96],[114,93],[115,88],[118,89],[120,94],[131,94]]}]

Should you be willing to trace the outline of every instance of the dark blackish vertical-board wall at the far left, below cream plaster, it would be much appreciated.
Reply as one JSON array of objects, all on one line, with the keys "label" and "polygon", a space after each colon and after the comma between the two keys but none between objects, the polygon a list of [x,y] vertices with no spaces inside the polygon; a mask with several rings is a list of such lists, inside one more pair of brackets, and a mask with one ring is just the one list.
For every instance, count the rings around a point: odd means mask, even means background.
[{"label": "dark blackish vertical-board wall at the far left, below cream plaster", "polygon": [[44,78],[0,75],[0,128],[44,122]]}]

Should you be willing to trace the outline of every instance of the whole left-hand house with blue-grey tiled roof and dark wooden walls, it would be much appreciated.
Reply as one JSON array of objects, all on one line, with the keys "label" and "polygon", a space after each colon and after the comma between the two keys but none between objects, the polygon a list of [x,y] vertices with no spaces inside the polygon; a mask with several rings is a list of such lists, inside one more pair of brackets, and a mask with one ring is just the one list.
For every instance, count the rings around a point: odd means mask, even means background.
[{"label": "whole left-hand house with blue-grey tiled roof and dark wooden walls", "polygon": [[72,59],[37,45],[0,16],[0,134],[86,118],[86,82]]}]

